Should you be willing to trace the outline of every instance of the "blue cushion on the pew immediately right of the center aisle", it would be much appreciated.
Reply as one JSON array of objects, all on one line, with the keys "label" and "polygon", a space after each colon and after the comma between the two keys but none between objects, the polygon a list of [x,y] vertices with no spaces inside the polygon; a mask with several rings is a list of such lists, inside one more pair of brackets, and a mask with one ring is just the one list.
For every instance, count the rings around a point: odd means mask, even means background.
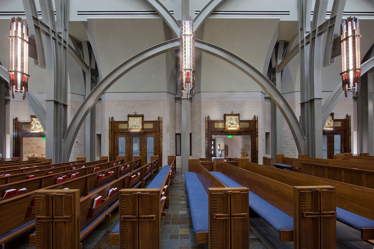
[{"label": "blue cushion on the pew immediately right of the center aisle", "polygon": [[194,233],[209,231],[208,194],[193,172],[184,172]]}]

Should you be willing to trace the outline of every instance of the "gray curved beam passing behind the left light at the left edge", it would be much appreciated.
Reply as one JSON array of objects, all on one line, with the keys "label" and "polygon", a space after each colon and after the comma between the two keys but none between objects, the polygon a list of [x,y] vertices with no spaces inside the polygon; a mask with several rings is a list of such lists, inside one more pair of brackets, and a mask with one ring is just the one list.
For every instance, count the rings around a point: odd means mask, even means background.
[{"label": "gray curved beam passing behind the left light at the left edge", "polygon": [[[8,70],[2,65],[0,65],[0,77],[2,77],[7,83],[9,83]],[[38,118],[43,130],[45,130],[46,110],[30,90],[27,91],[25,100],[28,106],[30,106],[31,110],[33,110],[35,116]]]}]

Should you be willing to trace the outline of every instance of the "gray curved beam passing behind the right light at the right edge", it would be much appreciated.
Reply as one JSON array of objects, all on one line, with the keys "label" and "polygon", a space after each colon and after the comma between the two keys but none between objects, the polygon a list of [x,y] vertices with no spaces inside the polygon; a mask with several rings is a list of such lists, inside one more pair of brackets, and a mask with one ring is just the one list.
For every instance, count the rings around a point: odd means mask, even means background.
[{"label": "gray curved beam passing behind the right light at the right edge", "polygon": [[[374,67],[374,57],[371,57],[367,61],[361,64],[361,75],[365,74],[368,72],[371,68]],[[322,106],[322,127],[324,127],[328,116],[334,110],[335,105],[338,103],[340,98],[343,96],[343,87],[340,83],[335,87],[334,91],[330,94],[324,105]]]}]

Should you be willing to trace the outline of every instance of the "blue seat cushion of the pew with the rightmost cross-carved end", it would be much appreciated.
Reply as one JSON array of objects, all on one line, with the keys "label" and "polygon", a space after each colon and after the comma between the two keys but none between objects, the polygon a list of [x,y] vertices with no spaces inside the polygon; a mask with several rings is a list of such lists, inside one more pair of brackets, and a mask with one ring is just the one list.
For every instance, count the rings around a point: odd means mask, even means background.
[{"label": "blue seat cushion of the pew with the rightmost cross-carved end", "polygon": [[[240,184],[236,183],[236,181],[233,181],[221,172],[211,171],[211,173],[225,184],[226,187],[242,187]],[[294,229],[294,219],[292,217],[251,191],[249,191],[249,207],[278,232],[281,230]]]}]

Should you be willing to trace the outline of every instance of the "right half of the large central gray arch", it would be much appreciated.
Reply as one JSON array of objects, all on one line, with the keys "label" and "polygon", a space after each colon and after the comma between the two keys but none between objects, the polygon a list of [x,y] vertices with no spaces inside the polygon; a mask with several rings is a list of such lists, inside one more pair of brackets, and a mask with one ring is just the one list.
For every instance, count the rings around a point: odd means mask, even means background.
[{"label": "right half of the large central gray arch", "polygon": [[281,113],[286,119],[286,122],[291,130],[292,136],[294,137],[298,153],[304,153],[305,135],[301,129],[301,125],[282,93],[279,92],[275,85],[273,85],[265,75],[261,74],[261,72],[254,68],[254,66],[239,56],[234,55],[221,47],[215,46],[214,44],[195,39],[195,48],[230,63],[260,85],[266,91],[266,93],[269,94],[270,98],[278,106],[279,110],[281,110]]}]

